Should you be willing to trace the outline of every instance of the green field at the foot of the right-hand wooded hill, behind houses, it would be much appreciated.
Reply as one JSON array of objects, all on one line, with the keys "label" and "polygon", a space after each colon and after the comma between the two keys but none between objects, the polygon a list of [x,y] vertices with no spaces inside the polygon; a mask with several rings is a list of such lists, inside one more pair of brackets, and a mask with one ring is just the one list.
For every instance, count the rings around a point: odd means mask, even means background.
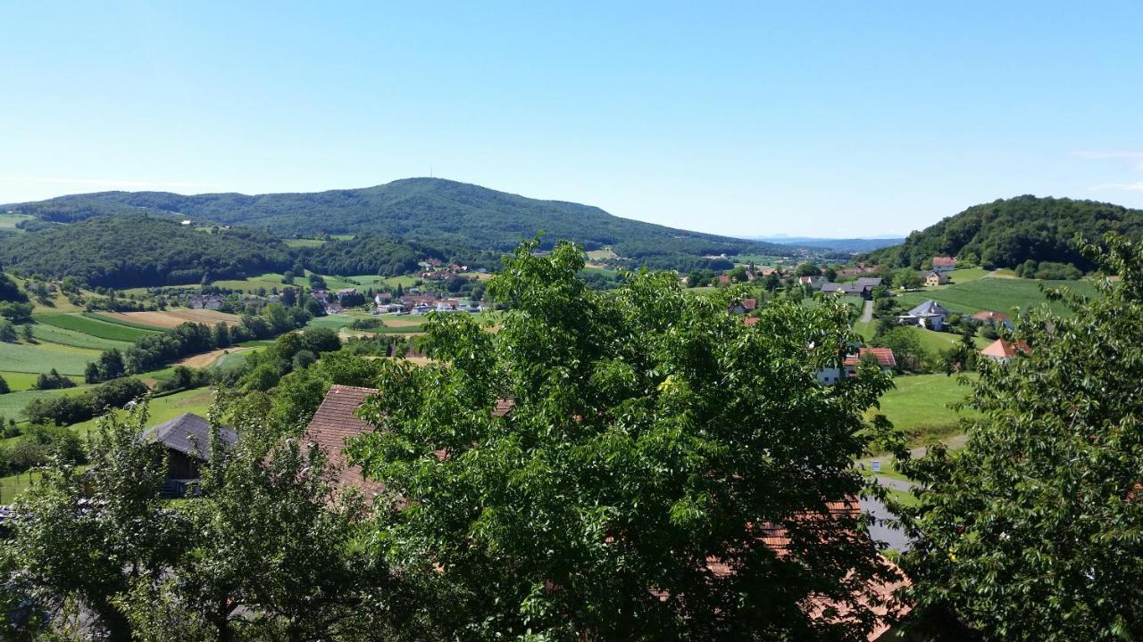
[{"label": "green field at the foot of the right-hand wooded hill, behind houses", "polygon": [[[1082,295],[1094,295],[1095,289],[1088,281],[1033,281],[1030,279],[994,279],[984,278],[967,283],[956,283],[934,288],[928,291],[904,292],[897,295],[901,307],[909,310],[928,299],[934,299],[951,312],[975,314],[984,310],[1010,314],[1014,307],[1029,310],[1047,298],[1040,291],[1040,284],[1048,288],[1066,287]],[[1064,307],[1052,304],[1056,312]]]}]

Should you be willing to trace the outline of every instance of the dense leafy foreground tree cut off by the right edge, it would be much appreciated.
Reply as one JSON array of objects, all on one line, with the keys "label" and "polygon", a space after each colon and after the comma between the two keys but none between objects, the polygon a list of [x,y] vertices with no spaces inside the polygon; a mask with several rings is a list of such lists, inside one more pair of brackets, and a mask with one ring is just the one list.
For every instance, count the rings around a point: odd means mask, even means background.
[{"label": "dense leafy foreground tree cut off by the right edge", "polygon": [[1029,354],[978,363],[964,450],[908,467],[917,597],[997,640],[1143,639],[1143,248],[1106,244],[1085,255],[1120,279],[1029,314]]}]

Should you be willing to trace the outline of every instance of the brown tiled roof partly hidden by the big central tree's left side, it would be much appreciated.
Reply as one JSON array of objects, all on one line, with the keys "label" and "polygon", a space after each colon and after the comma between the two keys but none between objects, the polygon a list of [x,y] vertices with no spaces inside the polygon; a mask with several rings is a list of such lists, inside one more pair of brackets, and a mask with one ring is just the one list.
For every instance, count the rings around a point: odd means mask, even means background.
[{"label": "brown tiled roof partly hidden by the big central tree's left side", "polygon": [[337,470],[338,487],[358,488],[367,496],[377,495],[384,487],[366,479],[360,466],[350,466],[344,449],[346,439],[373,432],[373,426],[357,416],[357,409],[373,394],[377,388],[330,386],[302,438],[326,452],[329,465]]}]

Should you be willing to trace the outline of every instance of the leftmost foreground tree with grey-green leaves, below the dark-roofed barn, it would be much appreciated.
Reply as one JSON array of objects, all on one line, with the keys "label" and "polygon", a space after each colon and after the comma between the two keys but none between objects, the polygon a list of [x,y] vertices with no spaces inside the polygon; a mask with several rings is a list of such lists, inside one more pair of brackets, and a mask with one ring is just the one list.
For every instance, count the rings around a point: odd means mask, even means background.
[{"label": "leftmost foreground tree with grey-green leaves, below the dark-roofed barn", "polygon": [[173,561],[184,530],[159,499],[162,448],[138,439],[139,407],[101,419],[93,435],[91,468],[80,479],[57,464],[16,501],[6,555],[37,602],[79,618],[110,640],[130,639],[118,596],[137,583],[157,581]]}]

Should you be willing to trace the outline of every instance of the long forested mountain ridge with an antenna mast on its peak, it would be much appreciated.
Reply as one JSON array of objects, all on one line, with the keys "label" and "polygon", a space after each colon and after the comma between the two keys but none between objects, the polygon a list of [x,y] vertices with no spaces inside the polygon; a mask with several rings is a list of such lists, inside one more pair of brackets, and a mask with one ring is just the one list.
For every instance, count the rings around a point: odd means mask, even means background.
[{"label": "long forested mountain ridge with an antenna mast on its peak", "polygon": [[[101,192],[6,206],[45,220],[74,222],[107,214],[177,212],[195,220],[269,230],[281,236],[365,232],[431,247],[507,251],[546,232],[665,267],[676,255],[790,254],[774,243],[674,230],[613,216],[597,207],[529,199],[440,178],[408,178],[360,190],[293,194]],[[673,258],[672,258],[673,257]],[[670,265],[686,268],[687,265]]]}]

